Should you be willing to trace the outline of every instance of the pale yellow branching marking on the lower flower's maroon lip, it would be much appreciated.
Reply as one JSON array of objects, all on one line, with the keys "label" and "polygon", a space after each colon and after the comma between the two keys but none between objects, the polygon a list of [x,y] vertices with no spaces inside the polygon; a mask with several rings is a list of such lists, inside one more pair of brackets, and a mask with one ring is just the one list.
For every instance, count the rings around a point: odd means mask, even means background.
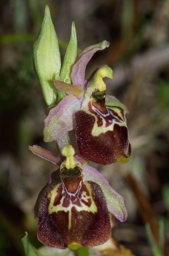
[{"label": "pale yellow branching marking on the lower flower's maroon lip", "polygon": [[[93,200],[92,197],[92,189],[91,186],[88,182],[84,182],[84,184],[86,185],[88,192],[89,192],[89,196],[86,195],[86,192],[83,191],[82,195],[81,195],[81,199],[83,199],[84,201],[88,202],[88,198],[91,199],[91,205],[87,206],[86,204],[84,204],[83,202],[81,202],[81,206],[78,206],[76,204],[72,204],[72,202],[70,201],[70,204],[68,207],[63,206],[63,201],[64,201],[64,196],[62,196],[61,200],[60,200],[60,204],[54,206],[54,201],[55,201],[55,197],[58,195],[58,188],[60,186],[60,184],[56,185],[49,193],[48,193],[48,198],[50,199],[50,204],[48,207],[48,212],[49,214],[52,214],[53,212],[59,212],[59,211],[64,211],[64,212],[68,212],[68,229],[70,230],[72,227],[72,208],[75,207],[76,211],[81,212],[81,211],[86,211],[86,212],[92,212],[92,213],[96,213],[97,212],[97,206]],[[69,193],[68,191],[66,191],[66,193],[68,193],[69,195],[74,195]]]}]

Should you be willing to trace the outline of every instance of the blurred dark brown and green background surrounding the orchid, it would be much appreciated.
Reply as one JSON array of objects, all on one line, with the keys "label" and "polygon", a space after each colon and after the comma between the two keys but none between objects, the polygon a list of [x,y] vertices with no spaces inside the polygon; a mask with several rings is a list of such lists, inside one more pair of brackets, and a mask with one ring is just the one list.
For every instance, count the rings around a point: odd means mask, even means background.
[{"label": "blurred dark brown and green background surrounding the orchid", "polygon": [[[56,152],[43,142],[46,108],[35,76],[32,47],[48,4],[61,58],[74,20],[78,47],[104,39],[110,47],[94,55],[87,77],[103,64],[113,69],[107,92],[129,110],[132,159],[96,166],[124,196],[128,220],[115,238],[136,255],[151,255],[129,173],[147,196],[169,241],[169,1],[168,0],[1,0],[0,2],[0,255],[23,255],[20,238],[28,231],[35,246],[33,208],[53,164],[34,156],[29,145]],[[148,213],[147,213],[148,214]]]}]

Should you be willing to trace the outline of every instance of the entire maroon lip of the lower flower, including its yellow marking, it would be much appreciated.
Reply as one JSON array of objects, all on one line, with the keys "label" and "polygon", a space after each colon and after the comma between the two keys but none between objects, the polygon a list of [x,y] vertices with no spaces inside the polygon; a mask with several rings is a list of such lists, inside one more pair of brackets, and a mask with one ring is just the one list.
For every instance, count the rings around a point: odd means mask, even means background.
[{"label": "entire maroon lip of the lower flower, including its yellow marking", "polygon": [[50,247],[93,247],[111,235],[106,200],[94,182],[80,182],[75,193],[68,192],[65,183],[51,185],[42,196],[38,217],[38,239]]}]

